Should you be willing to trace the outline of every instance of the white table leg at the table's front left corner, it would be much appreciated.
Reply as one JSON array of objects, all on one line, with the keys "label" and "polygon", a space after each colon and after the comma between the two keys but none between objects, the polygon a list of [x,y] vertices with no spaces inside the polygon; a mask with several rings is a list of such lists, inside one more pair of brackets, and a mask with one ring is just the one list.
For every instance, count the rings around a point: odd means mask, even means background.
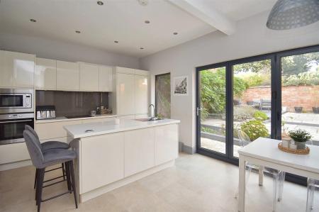
[{"label": "white table leg at the table's front left corner", "polygon": [[238,211],[245,211],[245,159],[243,157],[239,157],[239,184],[238,184]]}]

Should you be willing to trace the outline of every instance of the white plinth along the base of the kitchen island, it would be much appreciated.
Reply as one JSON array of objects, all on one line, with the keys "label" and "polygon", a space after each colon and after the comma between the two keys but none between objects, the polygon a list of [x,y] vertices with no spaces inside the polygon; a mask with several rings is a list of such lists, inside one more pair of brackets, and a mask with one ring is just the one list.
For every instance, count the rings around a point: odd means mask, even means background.
[{"label": "white plinth along the base of the kitchen island", "polygon": [[135,182],[138,179],[142,179],[143,177],[147,177],[150,174],[154,174],[155,172],[159,172],[163,169],[167,169],[169,167],[173,167],[175,164],[175,160],[171,160],[169,162],[166,162],[164,164],[160,164],[157,167],[152,167],[151,169],[147,169],[143,172],[140,172],[138,174],[133,174],[130,177],[125,177],[124,179],[118,180],[117,182],[113,182],[111,184],[108,184],[106,186],[102,186],[98,189],[94,189],[93,191],[86,192],[84,194],[80,194],[80,203],[83,203],[85,201],[88,201],[90,199],[95,198],[96,196],[100,196],[102,194],[107,193],[108,191],[112,191],[114,189],[118,189],[121,186],[125,186],[126,184],[130,184],[131,182]]}]

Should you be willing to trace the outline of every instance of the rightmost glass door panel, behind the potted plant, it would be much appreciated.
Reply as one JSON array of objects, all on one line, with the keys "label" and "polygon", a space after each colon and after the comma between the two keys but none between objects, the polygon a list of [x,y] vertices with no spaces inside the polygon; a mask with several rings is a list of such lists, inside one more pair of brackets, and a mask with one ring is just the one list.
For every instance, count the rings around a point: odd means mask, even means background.
[{"label": "rightmost glass door panel, behind the potted plant", "polygon": [[281,135],[306,130],[319,145],[319,52],[281,57]]}]

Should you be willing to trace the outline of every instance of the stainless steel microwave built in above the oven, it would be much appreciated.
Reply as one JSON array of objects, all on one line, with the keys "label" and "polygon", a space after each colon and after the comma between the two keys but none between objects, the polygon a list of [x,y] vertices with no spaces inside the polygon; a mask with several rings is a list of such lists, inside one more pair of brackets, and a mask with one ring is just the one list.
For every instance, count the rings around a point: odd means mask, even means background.
[{"label": "stainless steel microwave built in above the oven", "polygon": [[33,89],[0,89],[0,113],[33,112]]}]

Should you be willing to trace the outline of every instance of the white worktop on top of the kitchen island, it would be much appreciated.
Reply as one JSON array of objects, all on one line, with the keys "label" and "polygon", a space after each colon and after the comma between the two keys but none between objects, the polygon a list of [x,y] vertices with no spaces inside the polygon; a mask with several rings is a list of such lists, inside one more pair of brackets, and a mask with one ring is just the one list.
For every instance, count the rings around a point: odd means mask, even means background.
[{"label": "white worktop on top of the kitchen island", "polygon": [[[168,125],[172,123],[180,123],[179,120],[164,118],[159,121],[138,121],[131,119],[121,119],[119,124],[115,121],[105,121],[100,123],[84,123],[77,125],[65,125],[63,128],[72,138],[84,138],[94,135],[103,135],[108,133],[117,133],[126,130],[136,130],[140,128],[152,128],[157,125]],[[86,133],[86,130],[93,130]]]}]

